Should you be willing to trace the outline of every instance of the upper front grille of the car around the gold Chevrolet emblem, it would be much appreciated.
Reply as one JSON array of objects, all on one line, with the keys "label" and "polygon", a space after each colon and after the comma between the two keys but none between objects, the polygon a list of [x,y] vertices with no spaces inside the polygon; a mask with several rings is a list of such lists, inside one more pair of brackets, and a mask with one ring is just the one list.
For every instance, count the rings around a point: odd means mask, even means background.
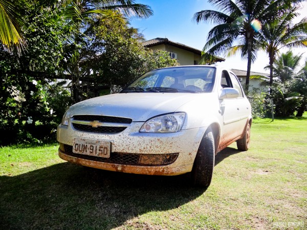
[{"label": "upper front grille of the car around the gold Chevrolet emblem", "polygon": [[[76,121],[76,122],[74,122]],[[78,122],[90,123],[97,121],[99,123],[104,123],[102,126],[92,126],[91,124],[78,124]],[[92,133],[106,133],[115,134],[124,131],[129,124],[131,124],[132,119],[130,118],[120,118],[120,117],[109,117],[109,116],[99,116],[99,115],[76,115],[72,119],[72,127],[81,132],[92,132]]]}]

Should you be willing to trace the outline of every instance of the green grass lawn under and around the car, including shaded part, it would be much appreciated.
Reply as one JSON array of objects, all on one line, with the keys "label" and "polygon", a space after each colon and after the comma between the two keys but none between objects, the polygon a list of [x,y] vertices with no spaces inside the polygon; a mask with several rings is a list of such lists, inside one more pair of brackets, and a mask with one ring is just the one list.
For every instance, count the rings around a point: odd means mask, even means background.
[{"label": "green grass lawn under and around the car, including shaded part", "polygon": [[307,117],[255,120],[250,150],[216,155],[211,186],[0,148],[0,229],[307,229]]}]

